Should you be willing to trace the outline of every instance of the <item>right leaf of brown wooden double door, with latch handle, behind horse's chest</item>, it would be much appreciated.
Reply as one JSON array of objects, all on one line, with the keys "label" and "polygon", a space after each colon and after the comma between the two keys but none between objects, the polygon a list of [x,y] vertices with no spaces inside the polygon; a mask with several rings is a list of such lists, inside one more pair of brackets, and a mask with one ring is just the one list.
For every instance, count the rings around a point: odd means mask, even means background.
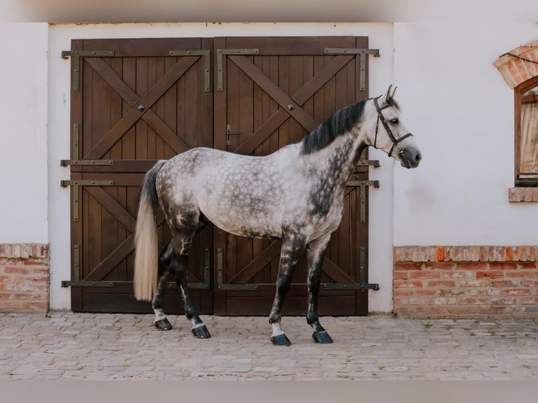
[{"label": "right leaf of brown wooden double door, with latch handle, behind horse's chest", "polygon": [[[368,96],[366,37],[216,38],[214,145],[266,155],[301,140],[341,107]],[[362,51],[357,51],[362,49]],[[367,161],[346,188],[345,212],[322,267],[321,315],[367,315]],[[280,241],[215,228],[215,314],[268,315]],[[306,258],[284,315],[306,313]],[[360,289],[357,283],[365,284]]]}]

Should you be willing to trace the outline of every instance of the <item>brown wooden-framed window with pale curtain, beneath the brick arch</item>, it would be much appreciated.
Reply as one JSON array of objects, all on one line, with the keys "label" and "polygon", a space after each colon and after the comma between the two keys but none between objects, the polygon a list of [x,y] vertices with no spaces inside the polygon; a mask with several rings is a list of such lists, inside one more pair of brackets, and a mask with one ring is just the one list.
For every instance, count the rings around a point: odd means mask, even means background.
[{"label": "brown wooden-framed window with pale curtain, beneath the brick arch", "polygon": [[538,77],[516,88],[516,186],[538,186]]}]

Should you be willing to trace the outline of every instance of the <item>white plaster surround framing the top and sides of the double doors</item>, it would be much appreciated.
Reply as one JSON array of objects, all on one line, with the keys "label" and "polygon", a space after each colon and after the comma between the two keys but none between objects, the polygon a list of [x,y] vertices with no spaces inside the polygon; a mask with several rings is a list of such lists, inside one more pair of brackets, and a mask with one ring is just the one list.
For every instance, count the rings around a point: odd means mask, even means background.
[{"label": "white plaster surround framing the top and sides of the double doors", "polygon": [[[49,171],[51,220],[51,308],[69,309],[70,291],[60,282],[70,278],[70,191],[59,187],[69,178],[69,169],[60,168],[68,158],[70,127],[70,61],[60,59],[70,49],[71,39],[130,37],[225,37],[225,36],[345,36],[365,35],[369,47],[379,48],[381,57],[370,58],[370,95],[379,95],[393,82],[393,25],[385,23],[181,23],[119,25],[52,25],[50,27],[49,72]],[[381,167],[372,169],[371,178],[381,182],[369,196],[370,249],[369,281],[380,284],[380,291],[369,291],[371,311],[392,308],[392,182],[393,165],[385,154],[373,150],[372,159]]]}]

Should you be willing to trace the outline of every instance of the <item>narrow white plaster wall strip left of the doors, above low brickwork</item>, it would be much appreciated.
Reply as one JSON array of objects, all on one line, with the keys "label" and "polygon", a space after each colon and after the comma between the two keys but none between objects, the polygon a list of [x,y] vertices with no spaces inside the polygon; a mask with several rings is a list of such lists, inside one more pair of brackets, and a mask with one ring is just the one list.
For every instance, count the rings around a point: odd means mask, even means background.
[{"label": "narrow white plaster wall strip left of the doors, above low brickwork", "polygon": [[48,243],[46,23],[0,23],[0,244]]}]

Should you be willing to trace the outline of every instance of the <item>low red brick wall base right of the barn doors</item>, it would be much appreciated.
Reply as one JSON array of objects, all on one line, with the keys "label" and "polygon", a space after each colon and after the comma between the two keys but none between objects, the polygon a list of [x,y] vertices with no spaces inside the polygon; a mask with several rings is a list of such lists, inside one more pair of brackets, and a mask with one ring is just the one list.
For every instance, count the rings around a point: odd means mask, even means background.
[{"label": "low red brick wall base right of the barn doors", "polygon": [[538,246],[394,248],[393,310],[411,316],[538,315]]}]

